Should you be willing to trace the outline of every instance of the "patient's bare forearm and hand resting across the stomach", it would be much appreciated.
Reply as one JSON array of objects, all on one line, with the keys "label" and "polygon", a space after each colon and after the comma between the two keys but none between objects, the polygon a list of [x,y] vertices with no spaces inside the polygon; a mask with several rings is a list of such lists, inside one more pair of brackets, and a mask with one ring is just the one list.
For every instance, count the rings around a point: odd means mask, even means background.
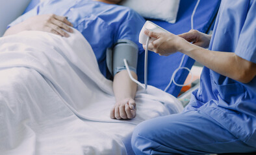
[{"label": "patient's bare forearm and hand resting across the stomach", "polygon": [[73,32],[70,26],[73,25],[66,19],[66,17],[57,16],[55,14],[45,14],[30,17],[18,25],[11,26],[6,30],[4,36],[17,34],[18,32],[24,30],[38,30],[51,32],[53,34],[57,34],[58,36],[69,37],[67,32]]}]

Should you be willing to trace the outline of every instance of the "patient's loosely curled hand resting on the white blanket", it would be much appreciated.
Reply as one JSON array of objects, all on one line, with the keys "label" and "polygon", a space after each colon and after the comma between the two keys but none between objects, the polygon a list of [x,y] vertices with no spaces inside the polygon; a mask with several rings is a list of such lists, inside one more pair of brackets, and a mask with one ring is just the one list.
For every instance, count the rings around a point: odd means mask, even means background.
[{"label": "patient's loosely curled hand resting on the white blanket", "polygon": [[112,119],[132,119],[136,116],[136,103],[134,99],[126,98],[116,102],[110,111]]}]

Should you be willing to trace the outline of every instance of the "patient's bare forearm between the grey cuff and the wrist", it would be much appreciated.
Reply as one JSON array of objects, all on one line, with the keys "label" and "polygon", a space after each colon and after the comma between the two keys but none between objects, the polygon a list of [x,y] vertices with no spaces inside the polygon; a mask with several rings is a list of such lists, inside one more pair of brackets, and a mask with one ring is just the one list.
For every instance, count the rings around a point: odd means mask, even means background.
[{"label": "patient's bare forearm between the grey cuff and the wrist", "polygon": [[[134,79],[137,79],[137,76],[134,72],[131,72],[131,74]],[[113,89],[116,101],[120,101],[125,98],[134,99],[137,90],[137,84],[129,78],[127,70],[122,70],[114,76]]]}]

